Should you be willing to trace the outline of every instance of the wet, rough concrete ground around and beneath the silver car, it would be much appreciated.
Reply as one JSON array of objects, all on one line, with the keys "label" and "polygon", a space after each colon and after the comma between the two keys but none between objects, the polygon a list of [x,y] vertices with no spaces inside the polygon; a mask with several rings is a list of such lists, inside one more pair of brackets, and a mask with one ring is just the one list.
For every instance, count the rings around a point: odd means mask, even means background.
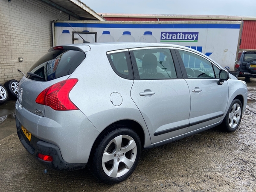
[{"label": "wet, rough concrete ground around and beneath the silver car", "polygon": [[[256,79],[247,81],[247,87],[249,100],[236,132],[213,128],[143,151],[135,172],[116,185],[98,183],[87,169],[44,173],[45,167],[21,145],[7,111],[9,116],[0,123],[0,191],[255,192]],[[14,103],[1,105],[0,114],[14,109]]]}]

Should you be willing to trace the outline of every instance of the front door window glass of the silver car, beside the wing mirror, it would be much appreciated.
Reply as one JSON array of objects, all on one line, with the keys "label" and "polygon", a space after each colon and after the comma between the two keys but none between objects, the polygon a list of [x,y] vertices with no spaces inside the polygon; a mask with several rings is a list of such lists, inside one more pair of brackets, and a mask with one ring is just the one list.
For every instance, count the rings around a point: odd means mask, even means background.
[{"label": "front door window glass of the silver car, beside the wing mirror", "polygon": [[[215,78],[213,65],[207,59],[192,52],[178,50],[188,78]],[[218,72],[217,72],[218,73]]]}]

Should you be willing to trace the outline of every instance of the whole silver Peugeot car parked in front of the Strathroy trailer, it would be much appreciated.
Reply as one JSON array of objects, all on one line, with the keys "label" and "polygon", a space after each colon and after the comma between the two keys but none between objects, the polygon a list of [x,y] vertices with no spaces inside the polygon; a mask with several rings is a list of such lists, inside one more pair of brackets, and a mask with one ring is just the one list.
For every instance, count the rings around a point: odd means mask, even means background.
[{"label": "whole silver Peugeot car parked in front of the Strathroy trailer", "polygon": [[56,46],[19,83],[20,142],[45,166],[89,166],[104,183],[134,171],[142,149],[222,125],[235,131],[245,82],[211,58],[170,44]]}]

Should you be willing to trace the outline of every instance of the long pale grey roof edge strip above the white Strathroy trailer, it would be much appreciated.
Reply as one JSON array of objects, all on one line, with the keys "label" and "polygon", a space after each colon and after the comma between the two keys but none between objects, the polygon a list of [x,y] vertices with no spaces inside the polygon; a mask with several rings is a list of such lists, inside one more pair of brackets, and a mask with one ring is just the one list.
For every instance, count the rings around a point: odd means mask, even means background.
[{"label": "long pale grey roof edge strip above the white Strathroy trailer", "polygon": [[229,16],[229,15],[166,15],[166,14],[119,14],[119,13],[99,13],[99,15],[102,15],[103,17],[256,20],[256,17]]}]

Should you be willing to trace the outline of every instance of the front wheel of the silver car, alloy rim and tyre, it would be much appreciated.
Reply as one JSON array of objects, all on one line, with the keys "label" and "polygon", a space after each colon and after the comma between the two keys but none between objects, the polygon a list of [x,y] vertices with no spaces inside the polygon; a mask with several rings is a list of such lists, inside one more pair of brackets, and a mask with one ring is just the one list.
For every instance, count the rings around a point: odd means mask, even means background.
[{"label": "front wheel of the silver car, alloy rim and tyre", "polygon": [[241,119],[242,119],[243,106],[239,99],[233,100],[230,108],[227,111],[225,118],[223,119],[222,125],[228,132],[236,131]]}]

